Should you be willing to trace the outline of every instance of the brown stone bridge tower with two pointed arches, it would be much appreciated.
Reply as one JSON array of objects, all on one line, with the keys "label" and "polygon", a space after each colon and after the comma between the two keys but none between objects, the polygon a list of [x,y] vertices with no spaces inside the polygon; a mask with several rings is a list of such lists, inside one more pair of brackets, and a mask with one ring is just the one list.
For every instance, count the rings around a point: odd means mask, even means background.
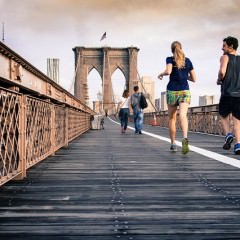
[{"label": "brown stone bridge tower with two pointed arches", "polygon": [[75,85],[74,95],[87,104],[87,77],[92,69],[96,69],[102,78],[103,109],[107,112],[113,109],[113,92],[111,76],[120,69],[125,77],[125,86],[130,94],[133,86],[138,84],[137,54],[139,49],[129,48],[73,48],[75,54]]}]

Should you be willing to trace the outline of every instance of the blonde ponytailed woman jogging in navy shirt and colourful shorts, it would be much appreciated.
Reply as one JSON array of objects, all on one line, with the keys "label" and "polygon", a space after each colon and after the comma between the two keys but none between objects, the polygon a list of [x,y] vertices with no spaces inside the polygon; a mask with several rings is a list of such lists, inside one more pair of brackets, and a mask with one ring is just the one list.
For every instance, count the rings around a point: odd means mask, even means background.
[{"label": "blonde ponytailed woman jogging in navy shirt and colourful shorts", "polygon": [[175,137],[177,108],[179,106],[179,117],[183,134],[182,153],[187,154],[189,152],[187,112],[191,101],[188,80],[195,82],[196,75],[192,62],[189,58],[185,57],[181,43],[178,41],[173,42],[171,50],[173,56],[166,58],[166,69],[159,74],[158,78],[162,80],[163,76],[170,75],[167,85],[167,105],[171,138],[170,151],[177,151]]}]

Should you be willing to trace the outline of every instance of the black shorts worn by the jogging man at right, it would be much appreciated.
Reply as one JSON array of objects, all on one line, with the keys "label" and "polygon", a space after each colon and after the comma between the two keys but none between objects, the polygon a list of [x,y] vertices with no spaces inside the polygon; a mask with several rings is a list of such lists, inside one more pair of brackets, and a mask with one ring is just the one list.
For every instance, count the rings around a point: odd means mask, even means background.
[{"label": "black shorts worn by the jogging man at right", "polygon": [[219,114],[227,117],[230,113],[240,120],[240,97],[221,96],[219,101]]}]

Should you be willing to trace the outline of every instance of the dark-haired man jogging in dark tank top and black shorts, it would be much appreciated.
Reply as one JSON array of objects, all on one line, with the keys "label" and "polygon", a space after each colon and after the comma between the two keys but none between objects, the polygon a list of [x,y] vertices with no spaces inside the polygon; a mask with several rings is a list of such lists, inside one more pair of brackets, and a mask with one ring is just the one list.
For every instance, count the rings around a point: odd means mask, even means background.
[{"label": "dark-haired man jogging in dark tank top and black shorts", "polygon": [[234,153],[240,155],[240,56],[237,55],[238,39],[223,39],[223,56],[220,58],[217,84],[221,85],[219,114],[223,126],[225,142],[223,149],[229,150],[233,142],[229,115],[232,114],[236,144]]}]

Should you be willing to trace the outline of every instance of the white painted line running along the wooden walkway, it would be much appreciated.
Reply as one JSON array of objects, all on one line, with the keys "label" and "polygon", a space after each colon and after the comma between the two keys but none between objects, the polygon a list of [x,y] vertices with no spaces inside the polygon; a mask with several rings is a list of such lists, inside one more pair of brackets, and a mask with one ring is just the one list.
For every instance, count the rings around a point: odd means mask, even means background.
[{"label": "white painted line running along the wooden walkway", "polygon": [[[120,123],[118,123],[118,122],[116,122],[112,119],[110,119],[110,120],[112,122],[120,125]],[[133,127],[128,127],[128,128],[132,129],[132,130],[135,130]],[[157,138],[159,140],[165,141],[165,142],[169,142],[169,143],[171,142],[169,138],[162,137],[160,135],[156,135],[156,134],[149,133],[149,132],[146,132],[146,131],[142,131],[142,133],[144,133],[144,134],[146,134],[150,137]],[[177,144],[177,146],[180,146],[180,147],[182,146],[182,143],[179,142],[179,141],[176,141],[176,144]],[[209,150],[205,150],[203,148],[195,147],[193,145],[189,145],[189,148],[190,148],[190,151],[196,152],[196,153],[201,154],[205,157],[214,159],[216,161],[219,161],[219,162],[222,162],[222,163],[225,163],[225,164],[229,164],[229,165],[237,167],[237,168],[240,168],[240,161],[235,159],[235,158],[227,157],[227,156],[224,156],[224,155],[221,155],[221,154],[209,151]]]}]

